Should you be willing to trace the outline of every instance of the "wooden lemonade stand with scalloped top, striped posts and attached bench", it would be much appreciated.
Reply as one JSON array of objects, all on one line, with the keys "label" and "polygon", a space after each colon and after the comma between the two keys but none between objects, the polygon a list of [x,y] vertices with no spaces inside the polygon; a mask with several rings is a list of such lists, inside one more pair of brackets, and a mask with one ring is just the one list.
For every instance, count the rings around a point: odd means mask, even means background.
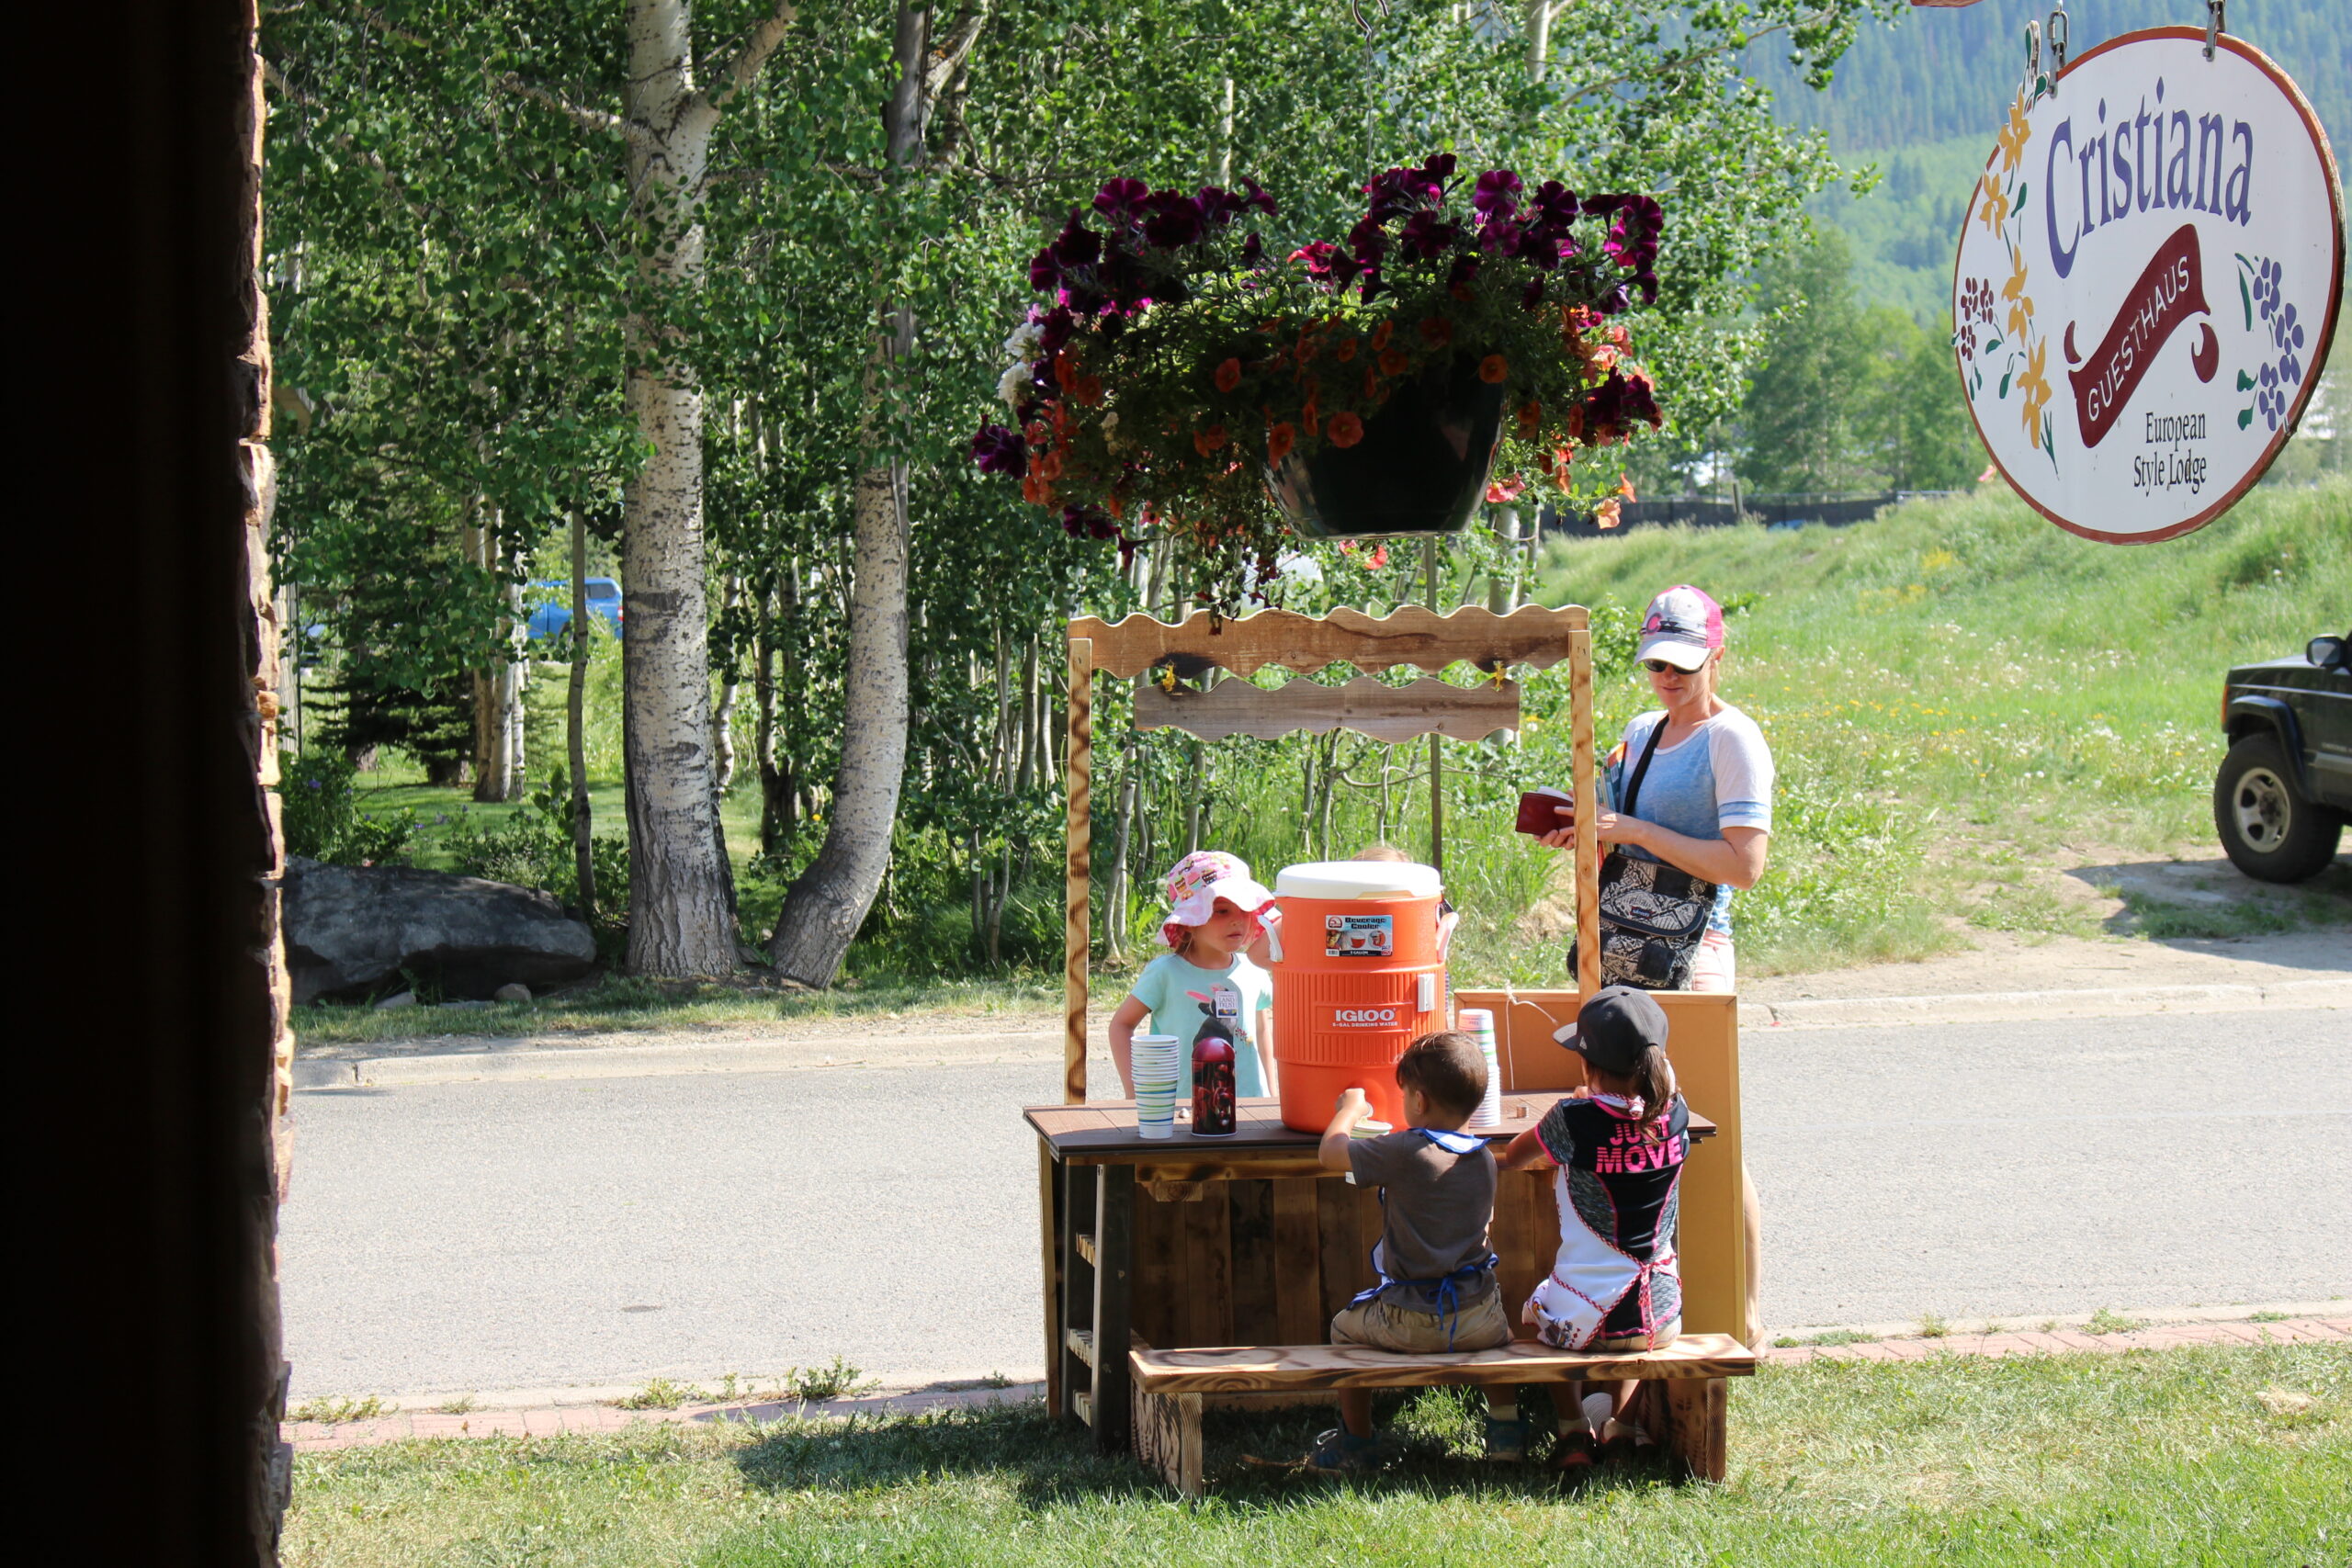
[{"label": "wooden lemonade stand with scalloped top, striped posts and attached bench", "polygon": [[[1477,741],[1519,724],[1510,665],[1569,663],[1576,799],[1595,799],[1592,639],[1583,607],[1404,607],[1374,618],[1263,611],[1178,623],[1127,616],[1070,621],[1068,907],[1063,1105],[1028,1110],[1037,1131],[1037,1201],[1044,1246],[1047,1403],[1087,1422],[1096,1446],[1134,1446],[1183,1493],[1202,1490],[1202,1399],[1327,1396],[1338,1387],[1442,1382],[1524,1385],[1644,1378],[1663,1396],[1639,1401],[1642,1420],[1698,1476],[1724,1474],[1726,1378],[1755,1371],[1748,1349],[1748,1255],[1740,1222],[1738,1001],[1729,994],[1663,992],[1672,1058],[1691,1103],[1698,1145],[1682,1178],[1684,1335],[1639,1354],[1569,1354],[1534,1340],[1505,1349],[1395,1356],[1327,1345],[1331,1314],[1371,1281],[1381,1237],[1378,1194],[1317,1161],[1317,1138],[1282,1126],[1272,1100],[1244,1100],[1230,1138],[1145,1143],[1131,1103],[1087,1105],[1087,964],[1094,764],[1094,677],[1148,675],[1178,661],[1251,677],[1268,665],[1310,675],[1334,663],[1364,672],[1338,686],[1291,679],[1211,691],[1136,684],[1136,729],[1181,729],[1202,741],[1275,738],[1355,729],[1381,741],[1444,733]],[[1439,672],[1472,663],[1477,686]],[[1406,686],[1369,679],[1411,665]],[[1583,1081],[1583,1065],[1552,1041],[1599,978],[1595,813],[1576,820],[1576,990],[1456,992],[1456,1006],[1496,1018],[1503,1128],[1534,1126],[1552,1100]],[[1559,1220],[1550,1171],[1503,1173],[1494,1251],[1505,1307],[1552,1267]],[[1653,1392],[1653,1394],[1656,1394]]]}]

